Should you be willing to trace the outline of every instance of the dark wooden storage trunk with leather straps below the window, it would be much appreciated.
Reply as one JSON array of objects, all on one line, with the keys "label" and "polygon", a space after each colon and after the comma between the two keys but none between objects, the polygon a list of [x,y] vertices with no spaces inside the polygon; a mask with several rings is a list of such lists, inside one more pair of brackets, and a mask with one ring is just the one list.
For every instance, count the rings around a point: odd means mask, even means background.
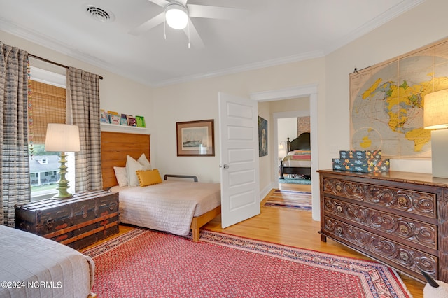
[{"label": "dark wooden storage trunk with leather straps below the window", "polygon": [[118,192],[95,190],[15,206],[15,228],[85,248],[118,233]]}]

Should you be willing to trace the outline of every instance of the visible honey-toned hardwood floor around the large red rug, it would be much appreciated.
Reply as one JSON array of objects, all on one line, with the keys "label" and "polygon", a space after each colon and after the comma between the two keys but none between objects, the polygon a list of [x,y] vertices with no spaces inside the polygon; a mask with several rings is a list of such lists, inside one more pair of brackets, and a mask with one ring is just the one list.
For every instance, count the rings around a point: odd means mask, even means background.
[{"label": "visible honey-toned hardwood floor around the large red rug", "polygon": [[[311,191],[311,185],[280,184],[280,189]],[[331,239],[328,239],[327,242],[322,242],[321,236],[318,234],[318,231],[321,229],[320,222],[312,220],[311,212],[288,208],[264,207],[264,201],[261,203],[260,215],[239,222],[237,225],[232,225],[226,229],[221,228],[221,215],[219,215],[207,225],[204,225],[203,228],[210,231],[279,243],[286,246],[295,246],[309,250],[318,250],[323,253],[370,260],[369,257],[365,257],[365,255],[361,255],[355,250],[342,246],[342,244]],[[120,225],[120,234],[130,231],[133,228],[128,225]],[[106,240],[112,239],[114,236],[120,234],[113,235]],[[98,243],[95,243],[93,246],[95,245],[98,245]],[[415,281],[403,274],[400,274],[400,278],[414,298],[423,298],[423,283]]]}]

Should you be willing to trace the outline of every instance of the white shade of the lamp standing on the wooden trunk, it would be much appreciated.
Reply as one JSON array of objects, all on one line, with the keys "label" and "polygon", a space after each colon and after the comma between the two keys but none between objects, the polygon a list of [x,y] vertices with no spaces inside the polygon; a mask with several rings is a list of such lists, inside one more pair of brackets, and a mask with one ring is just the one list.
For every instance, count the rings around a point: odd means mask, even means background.
[{"label": "white shade of the lamp standing on the wooden trunk", "polygon": [[48,123],[47,134],[45,136],[45,151],[78,152],[79,150],[78,126]]}]

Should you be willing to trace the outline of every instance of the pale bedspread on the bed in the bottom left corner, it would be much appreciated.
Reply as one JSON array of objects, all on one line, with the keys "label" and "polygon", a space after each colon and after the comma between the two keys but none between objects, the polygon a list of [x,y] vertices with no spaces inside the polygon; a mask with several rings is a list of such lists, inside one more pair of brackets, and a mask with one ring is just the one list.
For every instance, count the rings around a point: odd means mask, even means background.
[{"label": "pale bedspread on the bed in the bottom left corner", "polygon": [[90,257],[0,225],[0,297],[87,297],[93,278]]}]

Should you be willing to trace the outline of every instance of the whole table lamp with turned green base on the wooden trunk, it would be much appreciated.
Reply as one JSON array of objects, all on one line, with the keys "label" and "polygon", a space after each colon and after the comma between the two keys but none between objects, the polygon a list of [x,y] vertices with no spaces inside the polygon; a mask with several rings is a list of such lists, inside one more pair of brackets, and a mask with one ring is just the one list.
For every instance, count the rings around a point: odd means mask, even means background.
[{"label": "whole table lamp with turned green base on the wooden trunk", "polygon": [[47,134],[45,136],[45,151],[61,152],[59,159],[59,181],[56,189],[59,191],[53,198],[68,199],[73,194],[68,192],[69,181],[66,180],[65,174],[67,166],[65,165],[66,152],[78,152],[80,150],[79,129],[76,125],[66,125],[60,123],[48,123]]}]

